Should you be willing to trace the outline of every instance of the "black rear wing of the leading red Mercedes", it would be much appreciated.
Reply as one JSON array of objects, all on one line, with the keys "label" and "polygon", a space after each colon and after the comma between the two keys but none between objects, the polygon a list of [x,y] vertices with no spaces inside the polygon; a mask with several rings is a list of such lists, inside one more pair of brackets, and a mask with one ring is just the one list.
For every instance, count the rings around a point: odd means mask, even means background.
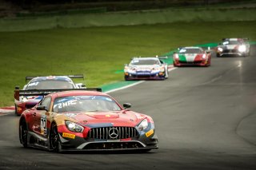
[{"label": "black rear wing of the leading red Mercedes", "polygon": [[27,89],[27,90],[20,90],[19,87],[15,87],[14,90],[14,98],[19,101],[19,97],[28,97],[28,96],[46,96],[50,93],[57,93],[63,91],[76,91],[76,90],[83,90],[83,91],[97,91],[102,92],[101,88],[88,88],[88,89]]}]

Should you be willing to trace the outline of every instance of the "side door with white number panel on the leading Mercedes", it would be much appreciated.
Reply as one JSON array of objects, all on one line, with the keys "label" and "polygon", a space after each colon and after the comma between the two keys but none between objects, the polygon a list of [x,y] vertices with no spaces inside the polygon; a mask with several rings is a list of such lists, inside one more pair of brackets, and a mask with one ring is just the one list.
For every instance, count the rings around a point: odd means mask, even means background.
[{"label": "side door with white number panel on the leading Mercedes", "polygon": [[33,113],[34,126],[36,127],[35,132],[41,136],[47,136],[47,113],[50,109],[50,101],[51,97],[45,97],[42,99],[38,104],[38,108],[45,106],[45,109],[36,109],[35,113]]}]

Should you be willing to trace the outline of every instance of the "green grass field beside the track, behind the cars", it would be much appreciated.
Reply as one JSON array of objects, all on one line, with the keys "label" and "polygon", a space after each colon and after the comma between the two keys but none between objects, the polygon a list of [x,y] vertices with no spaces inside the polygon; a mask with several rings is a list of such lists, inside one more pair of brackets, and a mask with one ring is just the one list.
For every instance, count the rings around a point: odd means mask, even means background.
[{"label": "green grass field beside the track, behind the cars", "polygon": [[26,76],[83,73],[87,87],[122,81],[134,56],[154,56],[178,46],[256,40],[256,22],[198,22],[0,33],[0,106],[13,105],[14,86]]}]

